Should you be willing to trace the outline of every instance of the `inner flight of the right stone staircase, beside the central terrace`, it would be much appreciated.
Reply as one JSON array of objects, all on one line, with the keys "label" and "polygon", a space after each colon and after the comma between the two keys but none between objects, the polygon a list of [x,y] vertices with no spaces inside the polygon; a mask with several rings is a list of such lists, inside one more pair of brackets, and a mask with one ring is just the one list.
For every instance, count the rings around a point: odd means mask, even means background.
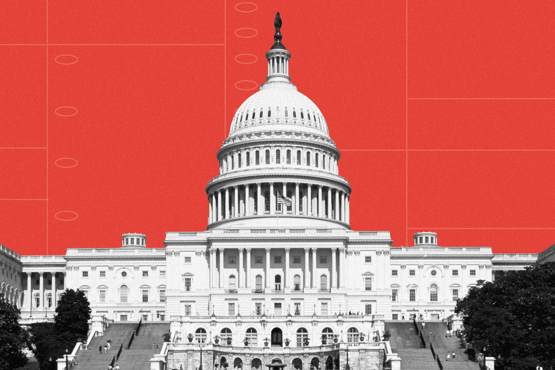
[{"label": "inner flight of the right stone staircase, beside the central terrace", "polygon": [[401,370],[439,370],[430,348],[423,348],[412,321],[386,322],[391,349],[401,357]]}]

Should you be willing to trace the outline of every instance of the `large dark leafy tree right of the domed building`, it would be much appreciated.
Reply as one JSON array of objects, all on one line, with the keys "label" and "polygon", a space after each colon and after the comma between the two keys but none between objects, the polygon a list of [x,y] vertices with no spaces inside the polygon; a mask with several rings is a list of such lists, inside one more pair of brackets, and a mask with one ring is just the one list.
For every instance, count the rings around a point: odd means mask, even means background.
[{"label": "large dark leafy tree right of the domed building", "polygon": [[[545,369],[555,363],[555,262],[478,280],[457,302],[472,346],[496,357],[496,367]],[[501,358],[498,356],[501,355]]]}]

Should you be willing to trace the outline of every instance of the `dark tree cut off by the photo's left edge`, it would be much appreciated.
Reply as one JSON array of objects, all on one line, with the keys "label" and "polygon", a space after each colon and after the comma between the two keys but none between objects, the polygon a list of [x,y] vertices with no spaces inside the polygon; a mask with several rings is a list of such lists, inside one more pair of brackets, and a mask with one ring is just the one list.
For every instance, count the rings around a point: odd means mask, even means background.
[{"label": "dark tree cut off by the photo's left edge", "polygon": [[19,308],[0,297],[0,369],[11,370],[27,363],[22,349],[27,344],[27,332],[17,320],[21,318]]}]

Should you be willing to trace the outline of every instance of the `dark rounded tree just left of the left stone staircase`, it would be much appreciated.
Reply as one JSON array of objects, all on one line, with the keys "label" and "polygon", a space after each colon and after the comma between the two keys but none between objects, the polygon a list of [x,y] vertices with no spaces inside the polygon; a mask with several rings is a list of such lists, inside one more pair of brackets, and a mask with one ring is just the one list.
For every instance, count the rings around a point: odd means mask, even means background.
[{"label": "dark rounded tree just left of the left stone staircase", "polygon": [[73,342],[73,345],[79,338],[86,340],[90,312],[89,301],[82,290],[66,289],[56,307],[54,331],[60,337]]}]

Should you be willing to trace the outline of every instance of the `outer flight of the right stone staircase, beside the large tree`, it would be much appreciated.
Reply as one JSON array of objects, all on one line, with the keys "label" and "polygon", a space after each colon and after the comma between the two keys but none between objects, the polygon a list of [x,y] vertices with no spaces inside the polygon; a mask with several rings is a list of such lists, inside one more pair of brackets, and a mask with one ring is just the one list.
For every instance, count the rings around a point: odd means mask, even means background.
[{"label": "outer flight of the right stone staircase, beside the large tree", "polygon": [[[437,356],[440,357],[441,364],[444,370],[480,370],[480,365],[477,362],[468,359],[465,353],[466,348],[463,347],[461,339],[453,336],[452,338],[445,337],[447,325],[443,322],[430,322],[426,323],[426,328],[423,333],[426,333],[424,339],[427,343],[432,342],[433,349]],[[430,337],[430,332],[432,335]],[[447,361],[447,352],[455,352],[455,361],[451,359]]]}]

